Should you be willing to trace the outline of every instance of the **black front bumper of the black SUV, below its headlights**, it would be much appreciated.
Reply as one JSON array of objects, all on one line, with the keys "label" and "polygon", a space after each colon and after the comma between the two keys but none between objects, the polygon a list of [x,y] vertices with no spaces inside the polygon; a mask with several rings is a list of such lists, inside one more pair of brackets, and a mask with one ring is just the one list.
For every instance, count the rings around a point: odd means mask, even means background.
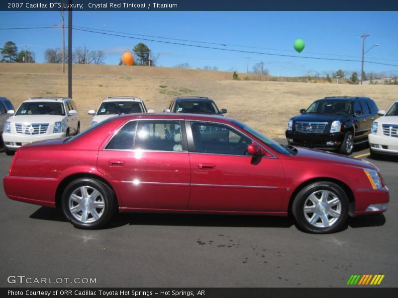
[{"label": "black front bumper of the black SUV, below its headlights", "polygon": [[289,145],[319,148],[319,149],[339,149],[344,141],[344,135],[335,134],[303,134],[296,131],[286,131],[286,139]]}]

